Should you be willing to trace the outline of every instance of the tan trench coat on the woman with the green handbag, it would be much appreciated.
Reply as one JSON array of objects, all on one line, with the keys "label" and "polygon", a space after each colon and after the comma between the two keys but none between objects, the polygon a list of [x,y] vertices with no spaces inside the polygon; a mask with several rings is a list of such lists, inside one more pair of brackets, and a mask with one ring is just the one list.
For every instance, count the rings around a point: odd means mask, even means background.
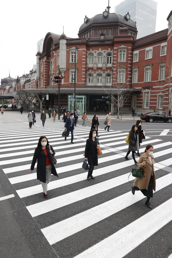
[{"label": "tan trench coat on the woman with the green handbag", "polygon": [[[144,168],[144,175],[143,178],[136,178],[134,180],[134,186],[138,187],[139,189],[147,189],[148,184],[151,178],[152,168],[153,168],[153,190],[155,191],[156,187],[156,181],[155,181],[155,171],[154,171],[154,157],[151,155],[152,159],[152,166],[150,163],[150,160],[148,159],[147,153],[144,153],[140,156],[139,161],[137,163],[138,167]],[[146,164],[143,166],[142,163],[146,162]],[[140,180],[139,180],[140,179]],[[139,180],[135,183],[135,181]]]}]

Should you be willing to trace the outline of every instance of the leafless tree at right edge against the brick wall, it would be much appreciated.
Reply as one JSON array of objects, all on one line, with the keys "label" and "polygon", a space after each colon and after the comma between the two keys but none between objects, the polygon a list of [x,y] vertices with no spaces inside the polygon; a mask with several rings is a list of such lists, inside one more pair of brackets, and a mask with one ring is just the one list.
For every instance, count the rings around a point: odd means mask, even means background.
[{"label": "leafless tree at right edge against the brick wall", "polygon": [[165,69],[160,66],[159,73],[159,86],[160,90],[157,93],[161,92],[163,97],[163,104],[167,107],[167,110],[170,110],[171,107],[171,96],[172,96],[172,62],[167,62],[164,64]]}]

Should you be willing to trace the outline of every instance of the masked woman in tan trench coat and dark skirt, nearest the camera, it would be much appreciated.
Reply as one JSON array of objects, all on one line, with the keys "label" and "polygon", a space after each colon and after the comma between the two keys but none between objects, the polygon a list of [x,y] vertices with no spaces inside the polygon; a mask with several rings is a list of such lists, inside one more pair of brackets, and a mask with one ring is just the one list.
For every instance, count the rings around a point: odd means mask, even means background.
[{"label": "masked woman in tan trench coat and dark skirt, nearest the camera", "polygon": [[[143,177],[136,178],[134,180],[134,187],[132,187],[132,194],[135,194],[135,190],[140,190],[143,195],[147,197],[145,204],[152,209],[149,200],[153,197],[153,190],[155,191],[156,181],[155,181],[155,171],[154,171],[154,157],[153,157],[153,146],[147,145],[145,153],[140,156],[137,166],[144,168]],[[137,182],[136,182],[137,181]]]}]

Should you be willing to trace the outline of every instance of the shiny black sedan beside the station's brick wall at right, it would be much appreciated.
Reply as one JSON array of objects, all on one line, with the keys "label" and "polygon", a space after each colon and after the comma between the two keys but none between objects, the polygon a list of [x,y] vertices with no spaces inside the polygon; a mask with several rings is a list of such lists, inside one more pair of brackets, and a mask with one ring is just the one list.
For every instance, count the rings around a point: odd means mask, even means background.
[{"label": "shiny black sedan beside the station's brick wall at right", "polygon": [[172,122],[171,116],[166,116],[162,113],[146,113],[140,117],[141,120],[144,120],[146,122],[152,123],[153,121],[159,121],[159,122]]}]

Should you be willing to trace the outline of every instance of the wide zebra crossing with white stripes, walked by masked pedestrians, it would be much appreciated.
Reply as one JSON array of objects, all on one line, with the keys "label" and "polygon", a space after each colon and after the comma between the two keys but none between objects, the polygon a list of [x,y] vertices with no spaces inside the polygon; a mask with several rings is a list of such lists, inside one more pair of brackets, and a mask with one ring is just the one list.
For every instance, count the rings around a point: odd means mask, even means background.
[{"label": "wide zebra crossing with white stripes, walked by masked pedestrians", "polygon": [[[71,135],[67,141],[61,137],[64,123],[60,121],[47,120],[44,128],[41,121],[32,129],[28,127],[28,123],[0,125],[1,131],[6,128],[0,136],[0,165],[59,257],[133,257],[135,248],[139,252],[148,238],[151,241],[155,233],[171,223],[172,141],[164,141],[163,134],[150,137],[145,133],[146,139],[139,150],[142,154],[147,144],[154,147],[156,192],[150,200],[153,206],[150,210],[140,191],[132,195],[132,184],[128,182],[131,168],[135,167],[131,155],[130,160],[124,159],[129,131],[107,132],[104,127],[99,128],[103,155],[98,157],[98,167],[93,171],[95,179],[88,181],[88,171],[82,169],[82,163],[90,126],[77,124],[74,144]],[[29,173],[42,135],[56,152],[55,167],[59,175],[59,179],[51,176],[47,200],[36,179],[36,165],[33,173]],[[130,176],[130,181],[133,179]]]}]

